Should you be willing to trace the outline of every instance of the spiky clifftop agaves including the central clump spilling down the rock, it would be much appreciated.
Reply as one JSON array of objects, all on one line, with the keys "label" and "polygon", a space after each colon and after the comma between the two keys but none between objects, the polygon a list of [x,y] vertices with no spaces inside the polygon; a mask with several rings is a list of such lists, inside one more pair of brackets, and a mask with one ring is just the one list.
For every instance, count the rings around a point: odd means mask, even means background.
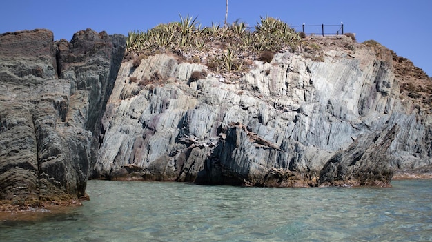
[{"label": "spiky clifftop agaves including the central clump spilling down the rock", "polygon": [[[228,26],[212,23],[210,27],[202,27],[197,18],[180,16],[179,22],[162,23],[147,32],[129,32],[126,55],[133,59],[167,51],[181,57],[190,52],[207,52],[212,56],[203,64],[210,70],[242,72],[248,65],[246,57],[258,57],[264,51],[294,49],[301,39],[299,32],[272,17],[261,17],[254,28],[248,28],[240,21]],[[200,63],[198,56],[193,62]]]}]

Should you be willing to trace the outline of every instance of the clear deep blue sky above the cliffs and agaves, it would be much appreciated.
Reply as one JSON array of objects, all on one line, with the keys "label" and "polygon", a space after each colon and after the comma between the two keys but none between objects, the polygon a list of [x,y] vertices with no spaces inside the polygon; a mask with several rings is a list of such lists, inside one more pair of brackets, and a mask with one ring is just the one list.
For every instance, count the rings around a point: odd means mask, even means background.
[{"label": "clear deep blue sky above the cliffs and agaves", "polygon": [[[54,38],[70,40],[79,30],[108,34],[147,30],[179,21],[179,14],[198,17],[203,26],[222,23],[226,0],[8,0],[1,3],[0,32],[48,28]],[[413,61],[432,76],[432,1],[430,0],[228,0],[228,22],[254,26],[259,17],[279,18],[291,26],[340,24],[357,41],[374,39]],[[320,28],[306,28],[319,32]]]}]

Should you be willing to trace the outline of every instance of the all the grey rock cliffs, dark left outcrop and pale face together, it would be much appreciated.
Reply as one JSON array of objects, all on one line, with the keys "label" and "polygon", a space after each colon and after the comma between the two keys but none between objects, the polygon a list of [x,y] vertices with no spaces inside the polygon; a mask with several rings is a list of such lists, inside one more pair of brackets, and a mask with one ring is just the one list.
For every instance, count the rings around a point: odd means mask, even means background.
[{"label": "all the grey rock cliffs, dark left outcrop and pale face together", "polygon": [[89,178],[262,187],[431,178],[429,77],[404,76],[406,60],[382,46],[303,41],[321,58],[284,50],[227,74],[205,53],[125,58],[124,36],[90,29],[70,42],[49,30],[1,34],[0,210],[78,204]]}]

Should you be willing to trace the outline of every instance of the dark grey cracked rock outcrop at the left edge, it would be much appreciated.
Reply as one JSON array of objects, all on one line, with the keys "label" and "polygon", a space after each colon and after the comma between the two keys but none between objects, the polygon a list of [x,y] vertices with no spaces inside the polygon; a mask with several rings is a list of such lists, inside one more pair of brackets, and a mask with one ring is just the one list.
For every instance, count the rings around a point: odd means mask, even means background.
[{"label": "dark grey cracked rock outcrop at the left edge", "polygon": [[92,30],[0,36],[0,199],[14,205],[84,195],[101,117],[126,39]]}]

